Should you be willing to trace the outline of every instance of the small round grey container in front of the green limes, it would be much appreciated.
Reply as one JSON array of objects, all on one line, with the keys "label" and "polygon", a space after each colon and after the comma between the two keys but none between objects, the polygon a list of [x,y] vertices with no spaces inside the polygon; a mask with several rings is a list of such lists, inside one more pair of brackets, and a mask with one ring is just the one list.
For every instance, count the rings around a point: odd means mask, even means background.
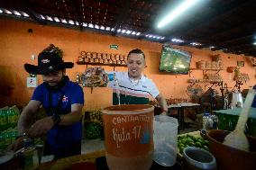
[{"label": "small round grey container in front of the green limes", "polygon": [[197,147],[187,147],[183,150],[184,170],[215,170],[216,159],[208,151]]}]

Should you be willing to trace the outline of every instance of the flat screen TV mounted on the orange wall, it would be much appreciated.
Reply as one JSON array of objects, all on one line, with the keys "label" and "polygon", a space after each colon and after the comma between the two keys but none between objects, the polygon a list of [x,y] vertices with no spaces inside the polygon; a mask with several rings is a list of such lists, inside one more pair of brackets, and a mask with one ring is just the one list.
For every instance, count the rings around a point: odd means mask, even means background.
[{"label": "flat screen TV mounted on the orange wall", "polygon": [[160,72],[187,75],[191,57],[190,52],[163,45],[160,56]]}]

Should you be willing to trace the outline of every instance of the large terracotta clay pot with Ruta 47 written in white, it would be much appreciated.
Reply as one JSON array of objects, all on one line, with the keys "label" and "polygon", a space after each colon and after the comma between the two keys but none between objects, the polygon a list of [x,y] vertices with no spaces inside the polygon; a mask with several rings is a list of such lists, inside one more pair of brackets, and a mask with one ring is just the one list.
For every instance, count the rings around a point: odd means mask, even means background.
[{"label": "large terracotta clay pot with Ruta 47 written in white", "polygon": [[151,105],[125,104],[102,110],[105,158],[110,170],[148,170],[153,157]]}]

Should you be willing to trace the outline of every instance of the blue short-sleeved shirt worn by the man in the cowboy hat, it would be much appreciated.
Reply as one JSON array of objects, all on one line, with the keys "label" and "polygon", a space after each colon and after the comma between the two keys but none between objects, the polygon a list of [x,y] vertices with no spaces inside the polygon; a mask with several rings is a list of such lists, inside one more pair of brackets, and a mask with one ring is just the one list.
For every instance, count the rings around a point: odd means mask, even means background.
[{"label": "blue short-sleeved shirt worn by the man in the cowboy hat", "polygon": [[[68,114],[71,112],[71,105],[74,103],[84,105],[84,93],[82,87],[69,81],[68,76],[66,76],[65,85],[63,85],[57,92],[50,93],[50,90],[45,83],[39,85],[32,95],[32,100],[40,101],[42,107],[46,109],[46,111],[49,111],[50,94],[52,96],[51,106],[53,108],[58,108],[59,105],[59,114]],[[60,99],[60,97],[62,99]],[[47,112],[47,114],[51,116],[52,112]],[[52,148],[69,147],[72,143],[78,142],[81,139],[81,121],[68,126],[56,125],[47,133],[47,141]]]}]

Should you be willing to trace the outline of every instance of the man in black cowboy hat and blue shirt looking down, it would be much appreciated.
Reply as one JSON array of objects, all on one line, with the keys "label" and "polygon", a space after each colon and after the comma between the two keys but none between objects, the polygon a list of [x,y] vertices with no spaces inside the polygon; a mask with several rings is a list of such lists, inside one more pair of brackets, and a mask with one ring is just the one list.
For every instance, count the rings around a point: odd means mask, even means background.
[{"label": "man in black cowboy hat and blue shirt looking down", "polygon": [[[70,157],[81,153],[83,89],[69,81],[66,68],[74,67],[64,62],[53,45],[44,49],[38,57],[38,66],[25,64],[25,70],[33,75],[42,75],[43,83],[32,94],[32,100],[23,109],[18,121],[18,131],[32,138],[47,134],[45,152],[55,158]],[[30,126],[32,115],[40,107],[48,117]]]}]

